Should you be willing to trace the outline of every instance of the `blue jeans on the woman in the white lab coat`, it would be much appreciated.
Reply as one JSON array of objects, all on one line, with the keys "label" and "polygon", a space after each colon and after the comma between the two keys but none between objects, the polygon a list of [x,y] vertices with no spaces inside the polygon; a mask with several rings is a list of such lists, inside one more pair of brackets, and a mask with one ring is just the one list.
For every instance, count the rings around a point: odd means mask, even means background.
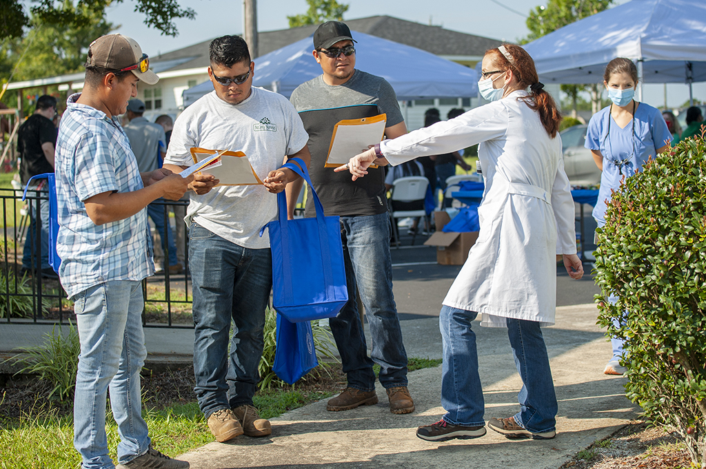
[{"label": "blue jeans on the woman in the white lab coat", "polygon": [[[446,410],[443,420],[452,425],[485,424],[476,334],[471,329],[477,315],[449,306],[441,307],[439,315],[443,339],[441,405]],[[530,432],[554,430],[556,394],[539,323],[509,318],[507,323],[515,365],[522,378],[522,389],[517,394],[520,412],[515,414],[515,420]]]}]

